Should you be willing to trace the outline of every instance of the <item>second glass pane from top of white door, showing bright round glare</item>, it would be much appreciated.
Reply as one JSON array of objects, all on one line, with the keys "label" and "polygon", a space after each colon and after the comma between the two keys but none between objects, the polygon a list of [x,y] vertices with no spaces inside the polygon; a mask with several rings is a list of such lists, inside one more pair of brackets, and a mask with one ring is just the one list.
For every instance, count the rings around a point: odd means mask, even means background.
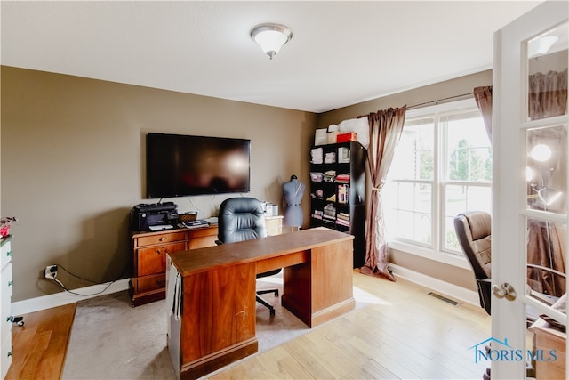
[{"label": "second glass pane from top of white door, showing bright round glare", "polygon": [[565,214],[567,199],[567,127],[526,132],[527,208]]}]

